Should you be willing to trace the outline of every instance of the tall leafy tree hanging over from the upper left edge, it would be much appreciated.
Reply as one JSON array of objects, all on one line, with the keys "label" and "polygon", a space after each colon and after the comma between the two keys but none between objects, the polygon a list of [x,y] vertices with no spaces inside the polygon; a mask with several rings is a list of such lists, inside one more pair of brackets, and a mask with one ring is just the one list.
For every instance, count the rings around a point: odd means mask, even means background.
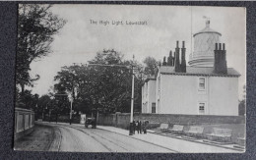
[{"label": "tall leafy tree hanging over from the upper left edge", "polygon": [[18,52],[16,65],[16,84],[21,87],[22,94],[25,85],[32,86],[36,75],[30,75],[30,65],[35,59],[50,53],[53,35],[65,25],[65,21],[52,14],[51,5],[20,4],[18,20]]}]

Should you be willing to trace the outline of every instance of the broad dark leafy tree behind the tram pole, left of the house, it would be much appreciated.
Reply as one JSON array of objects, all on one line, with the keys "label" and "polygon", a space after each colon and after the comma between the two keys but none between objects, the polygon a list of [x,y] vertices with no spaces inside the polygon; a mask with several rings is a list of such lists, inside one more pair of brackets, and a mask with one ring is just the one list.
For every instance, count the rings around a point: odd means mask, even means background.
[{"label": "broad dark leafy tree behind the tram pole, left of the house", "polygon": [[[74,108],[77,111],[129,112],[132,63],[132,61],[123,60],[123,55],[115,50],[97,52],[96,57],[89,61],[89,66],[63,67],[54,79],[57,82],[54,85],[55,92],[72,94]],[[137,69],[135,102],[141,104],[141,83],[138,83],[142,81],[143,68],[136,62],[133,65]]]}]

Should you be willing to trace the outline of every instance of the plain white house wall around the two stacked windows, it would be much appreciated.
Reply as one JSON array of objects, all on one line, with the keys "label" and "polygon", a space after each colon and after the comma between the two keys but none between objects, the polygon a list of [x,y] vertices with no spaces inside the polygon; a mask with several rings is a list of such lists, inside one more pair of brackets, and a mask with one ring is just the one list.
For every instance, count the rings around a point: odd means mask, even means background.
[{"label": "plain white house wall around the two stacked windows", "polygon": [[[199,78],[206,79],[205,90]],[[160,75],[160,114],[199,115],[200,102],[206,115],[237,116],[238,78]]]}]

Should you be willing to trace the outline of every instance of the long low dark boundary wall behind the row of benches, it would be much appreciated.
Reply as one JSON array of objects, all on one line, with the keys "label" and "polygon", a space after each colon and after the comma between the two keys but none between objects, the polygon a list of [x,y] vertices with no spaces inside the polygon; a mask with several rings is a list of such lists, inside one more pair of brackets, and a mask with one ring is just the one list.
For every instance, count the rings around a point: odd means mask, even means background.
[{"label": "long low dark boundary wall behind the row of benches", "polygon": [[[148,120],[150,124],[168,123],[169,125],[221,125],[221,124],[245,124],[243,116],[210,116],[210,115],[178,115],[178,114],[134,114],[134,120]],[[128,129],[130,114],[99,114],[98,125],[114,126]]]}]

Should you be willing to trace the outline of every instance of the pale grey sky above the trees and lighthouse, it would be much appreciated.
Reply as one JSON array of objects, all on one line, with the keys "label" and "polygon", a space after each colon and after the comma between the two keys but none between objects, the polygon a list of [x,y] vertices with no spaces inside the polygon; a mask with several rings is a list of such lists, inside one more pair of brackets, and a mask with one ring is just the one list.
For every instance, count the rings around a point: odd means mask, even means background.
[{"label": "pale grey sky above the trees and lighthouse", "polygon": [[[47,94],[54,84],[54,76],[63,66],[87,63],[103,49],[115,49],[124,54],[124,59],[143,60],[152,56],[161,60],[174,50],[176,41],[185,41],[186,60],[193,52],[192,34],[203,29],[206,19],[210,27],[222,33],[225,43],[227,67],[241,74],[239,99],[245,84],[245,8],[238,7],[190,7],[146,5],[54,5],[53,14],[67,21],[54,35],[51,53],[31,64],[31,74],[38,74],[32,93]],[[92,21],[97,24],[92,24]],[[108,21],[109,25],[99,24]],[[122,21],[123,25],[112,25]],[[127,22],[147,22],[147,25],[125,25]]]}]

